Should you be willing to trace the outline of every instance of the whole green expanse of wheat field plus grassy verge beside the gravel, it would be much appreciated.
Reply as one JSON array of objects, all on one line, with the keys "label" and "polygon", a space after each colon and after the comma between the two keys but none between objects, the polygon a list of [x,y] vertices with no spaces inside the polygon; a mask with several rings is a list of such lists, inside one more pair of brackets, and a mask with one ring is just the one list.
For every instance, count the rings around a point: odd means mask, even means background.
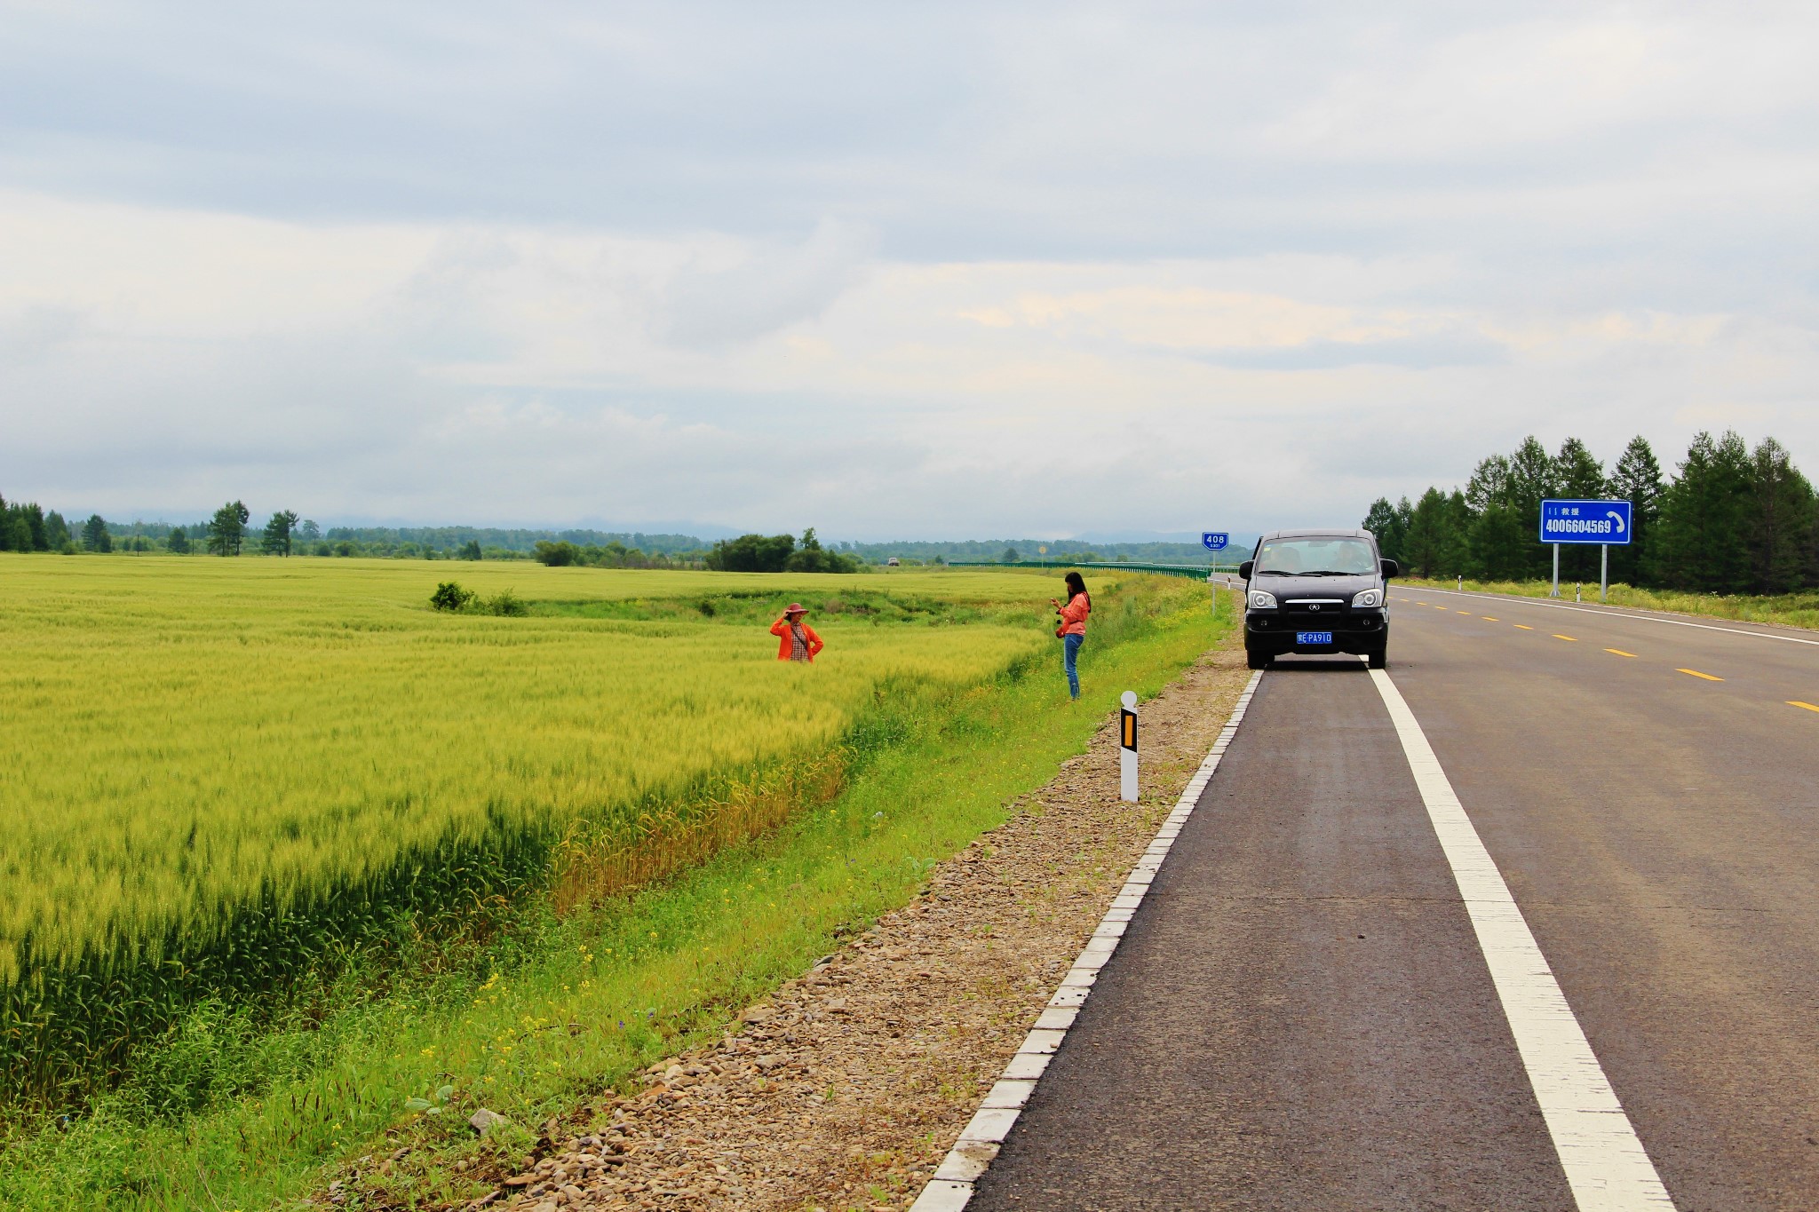
[{"label": "whole green expanse of wheat field plus grassy verge beside the gravel", "polygon": [[380,1132],[460,1197],[522,1141],[424,1099],[535,1123],[719,1030],[1219,634],[1106,569],[1070,709],[1053,574],[437,572],[0,558],[0,1207],[260,1207]]}]

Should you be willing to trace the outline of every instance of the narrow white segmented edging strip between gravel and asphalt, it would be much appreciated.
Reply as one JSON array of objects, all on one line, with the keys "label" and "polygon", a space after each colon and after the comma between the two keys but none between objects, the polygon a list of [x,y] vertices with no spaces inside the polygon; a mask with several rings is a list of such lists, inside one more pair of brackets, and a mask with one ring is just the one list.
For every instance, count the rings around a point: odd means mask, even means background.
[{"label": "narrow white segmented edging strip between gravel and asphalt", "polygon": [[1086,947],[1080,949],[1073,969],[1060,979],[1060,988],[1055,990],[1055,996],[1048,999],[1050,1008],[1042,1010],[1030,1034],[1024,1036],[1017,1056],[1004,1067],[1004,1076],[991,1087],[973,1119],[960,1128],[960,1139],[948,1150],[948,1157],[935,1170],[935,1177],[922,1188],[922,1194],[917,1196],[917,1201],[910,1205],[910,1212],[960,1212],[973,1197],[973,1183],[986,1172],[991,1159],[999,1156],[999,1148],[1004,1145],[1004,1137],[1010,1136],[1011,1125],[1017,1123],[1017,1116],[1022,1114],[1024,1103],[1035,1094],[1035,1087],[1048,1068],[1048,1058],[1060,1048],[1060,1041],[1066,1039],[1068,1030],[1073,1027],[1073,1018],[1086,1005],[1093,981],[1099,979],[1099,969],[1106,967],[1106,961],[1111,959],[1111,952],[1117,950],[1124,938],[1124,925],[1131,919],[1137,905],[1142,903],[1144,894],[1150,892],[1150,881],[1168,856],[1170,847],[1175,845],[1175,838],[1181,836],[1182,821],[1193,816],[1193,805],[1201,800],[1201,792],[1206,790],[1213,770],[1219,769],[1219,760],[1226,756],[1226,749],[1231,745],[1231,738],[1244,720],[1244,709],[1250,707],[1259,681],[1262,681],[1262,671],[1251,674],[1244,692],[1239,694],[1237,705],[1231,707],[1231,718],[1219,730],[1219,740],[1213,741],[1211,752],[1206,754],[1201,769],[1188,780],[1181,800],[1175,801],[1175,809],[1162,820],[1142,858],[1131,867],[1131,874],[1124,878],[1124,887],[1111,899],[1106,916],[1099,919],[1093,936],[1086,939]]}]

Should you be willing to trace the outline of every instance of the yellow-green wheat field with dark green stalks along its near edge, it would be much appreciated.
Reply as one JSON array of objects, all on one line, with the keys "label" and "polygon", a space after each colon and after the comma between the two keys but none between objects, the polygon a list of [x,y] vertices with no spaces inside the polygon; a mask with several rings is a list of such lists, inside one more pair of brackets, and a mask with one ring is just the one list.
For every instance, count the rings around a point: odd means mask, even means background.
[{"label": "yellow-green wheat field with dark green stalks along its near edge", "polygon": [[[880,698],[1050,645],[1015,572],[460,569],[520,618],[431,611],[437,572],[5,560],[0,1107],[106,1088],[196,999],[284,992],[398,914],[698,861],[839,790]],[[813,667],[775,660],[789,598]]]}]

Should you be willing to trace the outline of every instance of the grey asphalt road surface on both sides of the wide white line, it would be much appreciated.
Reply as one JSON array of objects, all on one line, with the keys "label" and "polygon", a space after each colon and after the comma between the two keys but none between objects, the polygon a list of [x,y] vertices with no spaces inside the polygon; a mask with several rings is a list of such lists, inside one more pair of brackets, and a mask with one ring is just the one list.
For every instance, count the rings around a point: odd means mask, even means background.
[{"label": "grey asphalt road surface on both sides of the wide white line", "polygon": [[[1819,1208],[1819,645],[1392,605],[1390,676],[1675,1207]],[[1264,674],[971,1207],[1575,1207],[1359,661]]]}]

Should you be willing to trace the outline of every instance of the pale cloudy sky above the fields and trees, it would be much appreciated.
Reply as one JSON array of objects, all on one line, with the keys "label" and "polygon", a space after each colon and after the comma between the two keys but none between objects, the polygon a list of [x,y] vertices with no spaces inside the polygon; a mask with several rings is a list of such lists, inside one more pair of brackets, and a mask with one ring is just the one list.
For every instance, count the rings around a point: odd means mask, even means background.
[{"label": "pale cloudy sky above the fields and trees", "polygon": [[1819,474],[1812,4],[0,0],[0,494],[824,538]]}]

